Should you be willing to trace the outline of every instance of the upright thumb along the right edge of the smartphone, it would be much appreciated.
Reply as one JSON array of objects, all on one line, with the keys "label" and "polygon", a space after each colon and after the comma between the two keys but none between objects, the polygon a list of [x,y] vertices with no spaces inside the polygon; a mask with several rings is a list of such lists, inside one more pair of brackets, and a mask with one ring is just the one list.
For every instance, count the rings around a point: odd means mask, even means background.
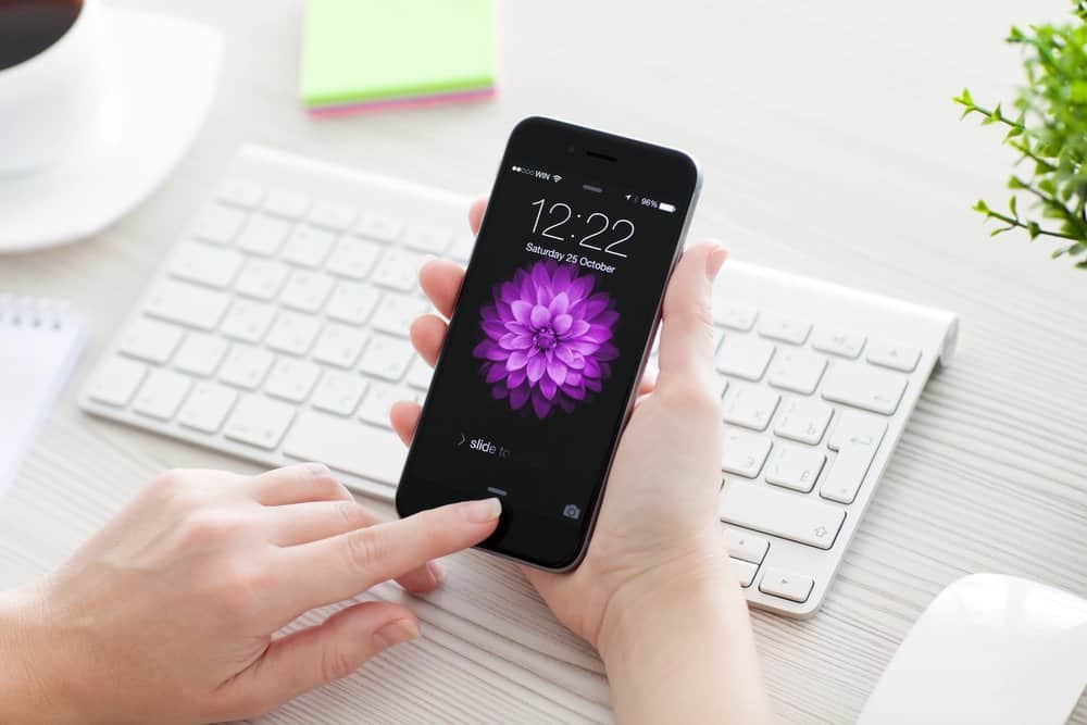
[{"label": "upright thumb along the right edge of the smartphone", "polygon": [[664,293],[660,375],[663,389],[679,382],[710,384],[713,372],[713,279],[726,252],[717,242],[688,247]]}]

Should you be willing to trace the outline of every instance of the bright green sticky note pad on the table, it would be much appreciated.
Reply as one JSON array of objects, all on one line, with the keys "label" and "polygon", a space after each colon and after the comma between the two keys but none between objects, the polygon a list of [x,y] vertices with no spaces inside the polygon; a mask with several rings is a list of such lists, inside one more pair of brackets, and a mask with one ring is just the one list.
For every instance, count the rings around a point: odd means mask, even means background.
[{"label": "bright green sticky note pad on the table", "polygon": [[493,0],[309,0],[301,96],[335,111],[488,95]]}]

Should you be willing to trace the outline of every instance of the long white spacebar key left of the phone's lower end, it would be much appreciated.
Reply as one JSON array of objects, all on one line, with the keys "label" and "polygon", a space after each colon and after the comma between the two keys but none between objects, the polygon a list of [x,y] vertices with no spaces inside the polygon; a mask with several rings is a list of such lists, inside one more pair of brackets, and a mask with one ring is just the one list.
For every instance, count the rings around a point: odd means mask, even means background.
[{"label": "long white spacebar key left of the phone's lower end", "polygon": [[403,443],[391,430],[313,411],[301,413],[295,421],[283,452],[390,486],[400,483],[407,458]]}]

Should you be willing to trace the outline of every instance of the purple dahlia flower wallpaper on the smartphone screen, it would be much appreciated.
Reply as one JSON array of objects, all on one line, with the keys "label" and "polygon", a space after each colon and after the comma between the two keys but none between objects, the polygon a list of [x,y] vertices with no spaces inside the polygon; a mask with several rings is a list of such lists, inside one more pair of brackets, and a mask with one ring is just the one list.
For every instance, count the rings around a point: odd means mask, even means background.
[{"label": "purple dahlia flower wallpaper on the smartphone screen", "polygon": [[611,342],[619,321],[608,292],[592,293],[597,277],[553,260],[517,270],[495,285],[493,304],[479,310],[484,339],[472,354],[496,400],[544,420],[558,405],[567,413],[600,392],[619,357]]}]

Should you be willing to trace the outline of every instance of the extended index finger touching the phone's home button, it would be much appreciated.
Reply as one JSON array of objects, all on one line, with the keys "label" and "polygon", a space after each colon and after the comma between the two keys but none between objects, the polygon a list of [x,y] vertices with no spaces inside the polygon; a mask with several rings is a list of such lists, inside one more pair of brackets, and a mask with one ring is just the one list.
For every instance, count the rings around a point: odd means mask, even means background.
[{"label": "extended index finger touching the phone's home button", "polygon": [[479,543],[495,532],[498,499],[451,503],[340,536],[280,550],[280,571],[292,583],[292,608],[333,604],[402,576],[432,559]]}]

